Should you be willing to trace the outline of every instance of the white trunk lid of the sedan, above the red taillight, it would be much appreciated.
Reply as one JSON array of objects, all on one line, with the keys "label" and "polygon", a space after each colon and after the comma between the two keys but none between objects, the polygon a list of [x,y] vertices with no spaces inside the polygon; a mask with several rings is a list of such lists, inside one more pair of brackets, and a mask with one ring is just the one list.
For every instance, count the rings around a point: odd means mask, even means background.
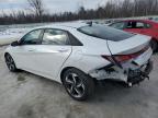
[{"label": "white trunk lid of the sedan, above the red taillight", "polygon": [[149,45],[150,39],[151,37],[149,36],[134,35],[131,38],[120,42],[108,40],[108,45],[112,55],[128,55],[145,48],[147,45]]}]

